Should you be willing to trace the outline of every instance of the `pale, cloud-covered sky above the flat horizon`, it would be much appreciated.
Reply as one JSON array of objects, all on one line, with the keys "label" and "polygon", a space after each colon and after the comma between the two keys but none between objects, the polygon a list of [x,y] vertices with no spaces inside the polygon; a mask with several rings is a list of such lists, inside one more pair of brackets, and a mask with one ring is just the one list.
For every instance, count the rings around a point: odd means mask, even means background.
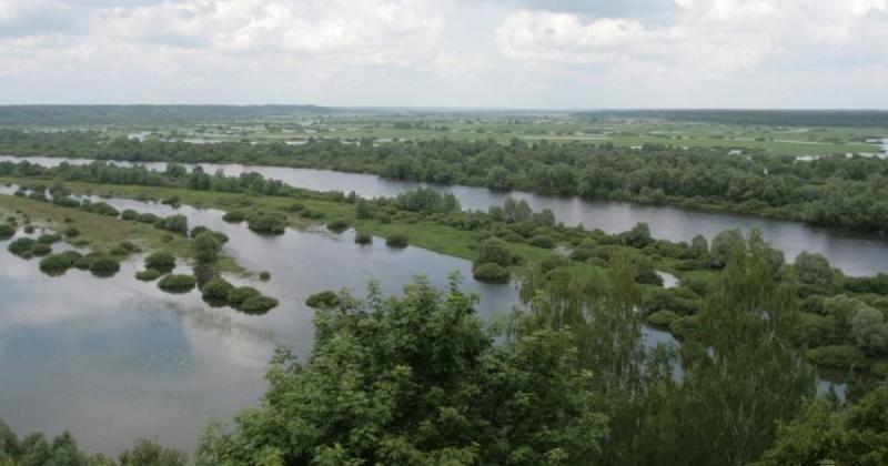
[{"label": "pale, cloud-covered sky above the flat horizon", "polygon": [[888,109],[888,0],[0,0],[0,104]]}]

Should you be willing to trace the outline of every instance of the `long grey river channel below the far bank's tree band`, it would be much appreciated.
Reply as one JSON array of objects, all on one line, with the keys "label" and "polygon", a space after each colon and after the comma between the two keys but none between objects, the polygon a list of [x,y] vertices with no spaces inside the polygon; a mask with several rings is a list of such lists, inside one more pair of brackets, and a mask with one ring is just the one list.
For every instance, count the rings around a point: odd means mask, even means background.
[{"label": "long grey river channel below the far bank's tree band", "polygon": [[[0,161],[28,160],[47,166],[68,161],[72,164],[91,162],[84,159],[14,158],[0,156]],[[132,165],[128,162],[114,162]],[[145,163],[152,170],[164,170],[163,162]],[[185,165],[193,168],[194,165]],[[265,178],[316,191],[355,191],[365,197],[391,197],[420,186],[448,192],[460,199],[464,209],[487,210],[502,205],[507,197],[525,200],[534,210],[551,209],[555,216],[568,225],[583,224],[608,233],[624,232],[638,222],[647,222],[655,237],[670,241],[689,241],[697,234],[712,239],[727,229],[760,229],[765,237],[793,261],[803,251],[816,252],[849,275],[872,275],[888,272],[888,241],[866,234],[852,234],[829,229],[813,227],[797,222],[756,219],[754,216],[707,213],[669,206],[645,206],[625,202],[589,202],[579,197],[543,196],[526,192],[501,193],[484,188],[427,185],[406,181],[385,180],[376,175],[343,173],[329,170],[252,166],[240,164],[201,164],[208,173],[222,170],[226,175],[244,172],[261,173]]]}]

